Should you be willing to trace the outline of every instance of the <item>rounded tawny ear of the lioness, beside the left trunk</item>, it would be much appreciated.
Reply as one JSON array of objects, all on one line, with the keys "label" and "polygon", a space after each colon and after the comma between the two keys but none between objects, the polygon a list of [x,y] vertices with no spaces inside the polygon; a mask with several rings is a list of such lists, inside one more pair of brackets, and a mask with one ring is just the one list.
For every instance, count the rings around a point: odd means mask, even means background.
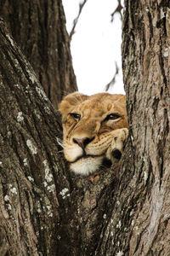
[{"label": "rounded tawny ear of the lioness, beside the left trunk", "polygon": [[62,102],[59,103],[59,112],[62,114],[62,120],[64,121],[66,119],[67,114],[70,113],[73,108],[87,99],[87,95],[83,95],[78,91],[65,96]]}]

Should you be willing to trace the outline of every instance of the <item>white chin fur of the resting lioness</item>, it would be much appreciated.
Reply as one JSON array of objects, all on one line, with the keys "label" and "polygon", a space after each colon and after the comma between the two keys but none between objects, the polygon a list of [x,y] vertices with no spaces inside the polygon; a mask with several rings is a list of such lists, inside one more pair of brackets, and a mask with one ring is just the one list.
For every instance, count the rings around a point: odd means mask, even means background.
[{"label": "white chin fur of the resting lioness", "polygon": [[93,173],[99,169],[99,166],[102,164],[103,157],[88,157],[88,158],[81,158],[77,160],[77,162],[72,163],[70,168],[72,172],[76,174],[87,176],[90,173]]}]

